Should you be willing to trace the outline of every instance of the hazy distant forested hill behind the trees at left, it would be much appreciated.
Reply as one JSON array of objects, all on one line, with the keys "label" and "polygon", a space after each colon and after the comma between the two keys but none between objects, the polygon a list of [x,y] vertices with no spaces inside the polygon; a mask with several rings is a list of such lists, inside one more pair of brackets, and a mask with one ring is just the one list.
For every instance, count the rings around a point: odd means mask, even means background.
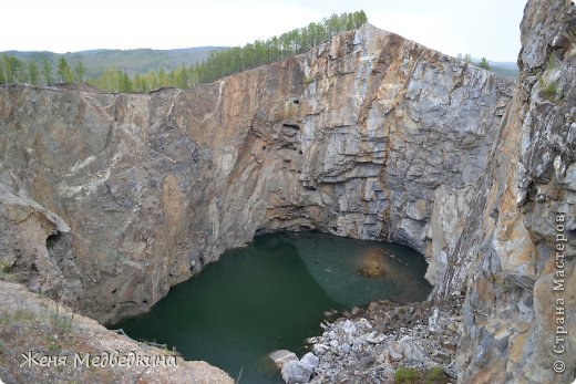
[{"label": "hazy distant forested hill behind the trees at left", "polygon": [[106,69],[115,68],[127,72],[128,75],[136,73],[147,73],[151,71],[172,71],[182,64],[189,66],[204,61],[210,56],[212,52],[225,50],[225,46],[197,46],[184,48],[177,50],[91,50],[79,51],[65,54],[59,54],[48,51],[20,52],[7,51],[0,52],[9,56],[16,56],[21,61],[35,61],[39,65],[48,59],[55,65],[61,56],[64,56],[73,68],[76,62],[82,61],[86,69],[88,77],[96,77]]}]

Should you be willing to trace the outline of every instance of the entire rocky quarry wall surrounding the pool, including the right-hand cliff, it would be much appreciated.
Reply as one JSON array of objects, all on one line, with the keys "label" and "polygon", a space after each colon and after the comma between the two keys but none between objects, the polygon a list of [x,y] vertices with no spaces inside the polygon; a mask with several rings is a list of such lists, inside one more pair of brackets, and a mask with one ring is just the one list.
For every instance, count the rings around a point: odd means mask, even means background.
[{"label": "entire rocky quarry wall surrounding the pool, including the right-hand cliff", "polygon": [[425,255],[431,299],[467,292],[462,382],[567,381],[575,20],[570,1],[528,1],[514,98],[371,25],[193,90],[2,87],[2,269],[113,322],[255,233],[385,239]]}]

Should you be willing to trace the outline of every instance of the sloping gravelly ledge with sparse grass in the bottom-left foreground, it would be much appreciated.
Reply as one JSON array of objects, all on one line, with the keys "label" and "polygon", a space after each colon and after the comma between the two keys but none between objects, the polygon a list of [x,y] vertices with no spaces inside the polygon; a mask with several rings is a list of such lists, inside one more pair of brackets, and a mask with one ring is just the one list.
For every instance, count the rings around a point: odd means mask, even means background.
[{"label": "sloping gravelly ledge with sparse grass in the bottom-left foreground", "polygon": [[21,284],[0,281],[0,381],[230,384],[205,362],[135,342]]}]

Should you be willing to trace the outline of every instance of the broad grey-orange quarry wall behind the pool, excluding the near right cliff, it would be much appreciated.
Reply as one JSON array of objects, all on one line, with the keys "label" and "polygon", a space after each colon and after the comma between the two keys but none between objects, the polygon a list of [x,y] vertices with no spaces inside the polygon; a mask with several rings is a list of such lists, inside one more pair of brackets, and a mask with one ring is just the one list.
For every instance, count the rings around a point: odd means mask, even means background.
[{"label": "broad grey-orange quarry wall behind the pool, excluding the near right cliff", "polygon": [[276,230],[407,243],[436,282],[512,86],[364,25],[193,90],[2,87],[2,190],[39,212],[0,211],[2,262],[103,322]]}]

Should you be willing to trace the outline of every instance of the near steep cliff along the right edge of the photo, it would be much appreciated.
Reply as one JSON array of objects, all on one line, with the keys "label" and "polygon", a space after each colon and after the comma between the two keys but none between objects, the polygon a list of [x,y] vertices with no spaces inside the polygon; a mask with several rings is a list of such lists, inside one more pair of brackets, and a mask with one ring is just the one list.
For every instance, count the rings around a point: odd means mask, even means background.
[{"label": "near steep cliff along the right edge of the photo", "polygon": [[467,281],[463,383],[576,375],[576,7],[528,1],[521,29],[514,101],[435,288]]}]

